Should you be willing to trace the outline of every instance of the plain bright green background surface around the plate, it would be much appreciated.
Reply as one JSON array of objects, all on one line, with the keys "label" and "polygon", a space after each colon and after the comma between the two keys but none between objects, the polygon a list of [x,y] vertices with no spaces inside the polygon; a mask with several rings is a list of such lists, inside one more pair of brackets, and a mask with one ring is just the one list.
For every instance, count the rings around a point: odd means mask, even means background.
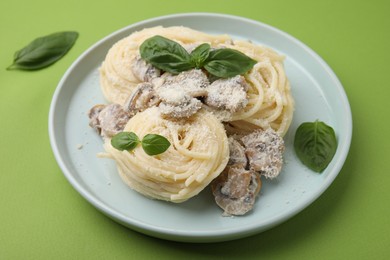
[{"label": "plain bright green background surface around the plate", "polygon": [[[388,258],[389,10],[385,0],[1,1],[0,259]],[[243,16],[293,35],[332,67],[351,104],[351,150],[335,182],[304,211],[256,236],[184,244],[131,231],[71,187],[50,148],[49,106],[71,63],[115,30],[182,12]],[[58,63],[5,70],[16,50],[61,30],[80,38]]]}]

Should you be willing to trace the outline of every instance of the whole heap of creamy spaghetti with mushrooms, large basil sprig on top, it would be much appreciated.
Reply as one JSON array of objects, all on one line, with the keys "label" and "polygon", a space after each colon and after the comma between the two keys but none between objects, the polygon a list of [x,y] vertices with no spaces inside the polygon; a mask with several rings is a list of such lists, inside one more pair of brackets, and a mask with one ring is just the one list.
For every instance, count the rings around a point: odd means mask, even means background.
[{"label": "whole heap of creamy spaghetti with mushrooms, large basil sprig on top", "polygon": [[[283,166],[294,109],[283,59],[265,46],[187,27],[132,33],[99,69],[107,104],[92,107],[89,118],[104,141],[100,157],[114,160],[122,180],[149,198],[180,203],[207,188],[224,215],[246,214],[261,179],[276,178]],[[141,146],[117,149],[112,140],[122,132],[163,136],[170,146],[156,155]]]}]

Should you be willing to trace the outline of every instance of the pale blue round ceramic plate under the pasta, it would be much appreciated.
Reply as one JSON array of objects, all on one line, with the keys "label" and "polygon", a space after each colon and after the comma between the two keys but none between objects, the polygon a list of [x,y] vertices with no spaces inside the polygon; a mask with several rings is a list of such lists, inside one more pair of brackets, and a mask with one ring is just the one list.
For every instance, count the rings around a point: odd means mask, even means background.
[{"label": "pale blue round ceramic plate under the pasta", "polygon": [[[206,33],[226,33],[249,39],[286,56],[296,108],[285,136],[285,167],[277,180],[263,182],[254,210],[242,217],[222,217],[209,189],[182,204],[147,199],[128,188],[115,164],[98,159],[100,137],[88,126],[87,111],[105,100],[98,67],[109,48],[130,33],[157,25],[183,25]],[[308,170],[293,151],[296,128],[319,119],[338,138],[337,153],[328,168]],[[177,241],[212,242],[236,239],[269,229],[294,216],[318,198],[338,175],[348,154],[352,117],[343,87],[327,64],[288,34],[246,18],[207,13],[178,14],[130,25],[102,39],[83,53],[60,81],[50,107],[49,133],[60,168],[71,185],[112,219],[139,232]]]}]

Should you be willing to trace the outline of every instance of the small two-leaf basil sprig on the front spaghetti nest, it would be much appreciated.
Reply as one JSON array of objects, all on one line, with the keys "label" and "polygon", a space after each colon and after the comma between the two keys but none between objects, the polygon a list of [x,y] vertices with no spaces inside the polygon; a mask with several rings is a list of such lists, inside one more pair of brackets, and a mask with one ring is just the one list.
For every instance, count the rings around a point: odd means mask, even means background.
[{"label": "small two-leaf basil sprig on the front spaghetti nest", "polygon": [[139,144],[142,145],[148,155],[157,155],[165,152],[171,143],[164,136],[157,134],[147,134],[140,140],[133,132],[121,132],[111,139],[111,145],[120,150],[132,151]]}]

